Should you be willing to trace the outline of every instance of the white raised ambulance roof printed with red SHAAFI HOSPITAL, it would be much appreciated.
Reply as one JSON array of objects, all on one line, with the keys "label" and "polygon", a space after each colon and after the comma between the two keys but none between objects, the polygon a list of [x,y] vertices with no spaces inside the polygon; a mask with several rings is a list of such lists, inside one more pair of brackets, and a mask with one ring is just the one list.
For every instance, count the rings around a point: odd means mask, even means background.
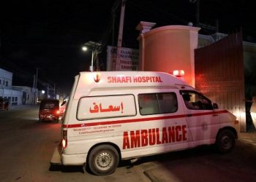
[{"label": "white raised ambulance roof printed with red SHAAFI HOSPITAL", "polygon": [[[121,87],[189,86],[172,74],[157,71],[94,71],[80,72],[75,98],[89,95],[91,90]],[[190,86],[189,86],[190,87]]]}]

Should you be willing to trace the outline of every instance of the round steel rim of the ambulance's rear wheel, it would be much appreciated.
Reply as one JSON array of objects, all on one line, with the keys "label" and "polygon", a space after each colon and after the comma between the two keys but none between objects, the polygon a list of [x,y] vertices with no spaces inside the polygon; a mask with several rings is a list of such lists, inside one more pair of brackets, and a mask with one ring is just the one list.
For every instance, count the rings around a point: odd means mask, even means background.
[{"label": "round steel rim of the ambulance's rear wheel", "polygon": [[95,158],[95,165],[99,170],[108,170],[113,166],[113,155],[110,152],[102,151]]}]

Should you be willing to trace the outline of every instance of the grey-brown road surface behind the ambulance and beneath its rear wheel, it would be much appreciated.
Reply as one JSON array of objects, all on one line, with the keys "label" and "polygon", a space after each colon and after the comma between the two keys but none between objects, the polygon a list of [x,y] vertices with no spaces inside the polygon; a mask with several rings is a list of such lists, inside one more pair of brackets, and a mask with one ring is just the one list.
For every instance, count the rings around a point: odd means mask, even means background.
[{"label": "grey-brown road surface behind the ambulance and beneath its rear wheel", "polygon": [[116,173],[95,176],[83,167],[50,167],[61,124],[38,122],[38,106],[0,111],[0,181],[150,181],[141,167],[122,162]]}]

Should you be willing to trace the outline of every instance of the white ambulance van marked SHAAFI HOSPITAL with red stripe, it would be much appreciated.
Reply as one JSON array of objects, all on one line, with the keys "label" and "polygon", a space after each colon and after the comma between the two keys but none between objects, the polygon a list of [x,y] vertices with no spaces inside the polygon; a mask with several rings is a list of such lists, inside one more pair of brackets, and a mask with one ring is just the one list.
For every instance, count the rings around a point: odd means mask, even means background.
[{"label": "white ambulance van marked SHAAFI HOSPITAL with red stripe", "polygon": [[225,153],[238,133],[236,116],[171,74],[81,72],[51,164],[87,165],[95,175],[108,175],[121,159],[208,144]]}]

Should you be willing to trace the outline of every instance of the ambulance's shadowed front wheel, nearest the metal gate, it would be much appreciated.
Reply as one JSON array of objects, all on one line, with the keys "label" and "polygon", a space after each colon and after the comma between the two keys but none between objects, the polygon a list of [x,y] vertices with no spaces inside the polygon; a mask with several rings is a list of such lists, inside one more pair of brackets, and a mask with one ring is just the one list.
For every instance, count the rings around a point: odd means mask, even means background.
[{"label": "ambulance's shadowed front wheel, nearest the metal gate", "polygon": [[222,130],[217,137],[217,150],[222,153],[230,152],[235,146],[235,136],[231,130]]}]

